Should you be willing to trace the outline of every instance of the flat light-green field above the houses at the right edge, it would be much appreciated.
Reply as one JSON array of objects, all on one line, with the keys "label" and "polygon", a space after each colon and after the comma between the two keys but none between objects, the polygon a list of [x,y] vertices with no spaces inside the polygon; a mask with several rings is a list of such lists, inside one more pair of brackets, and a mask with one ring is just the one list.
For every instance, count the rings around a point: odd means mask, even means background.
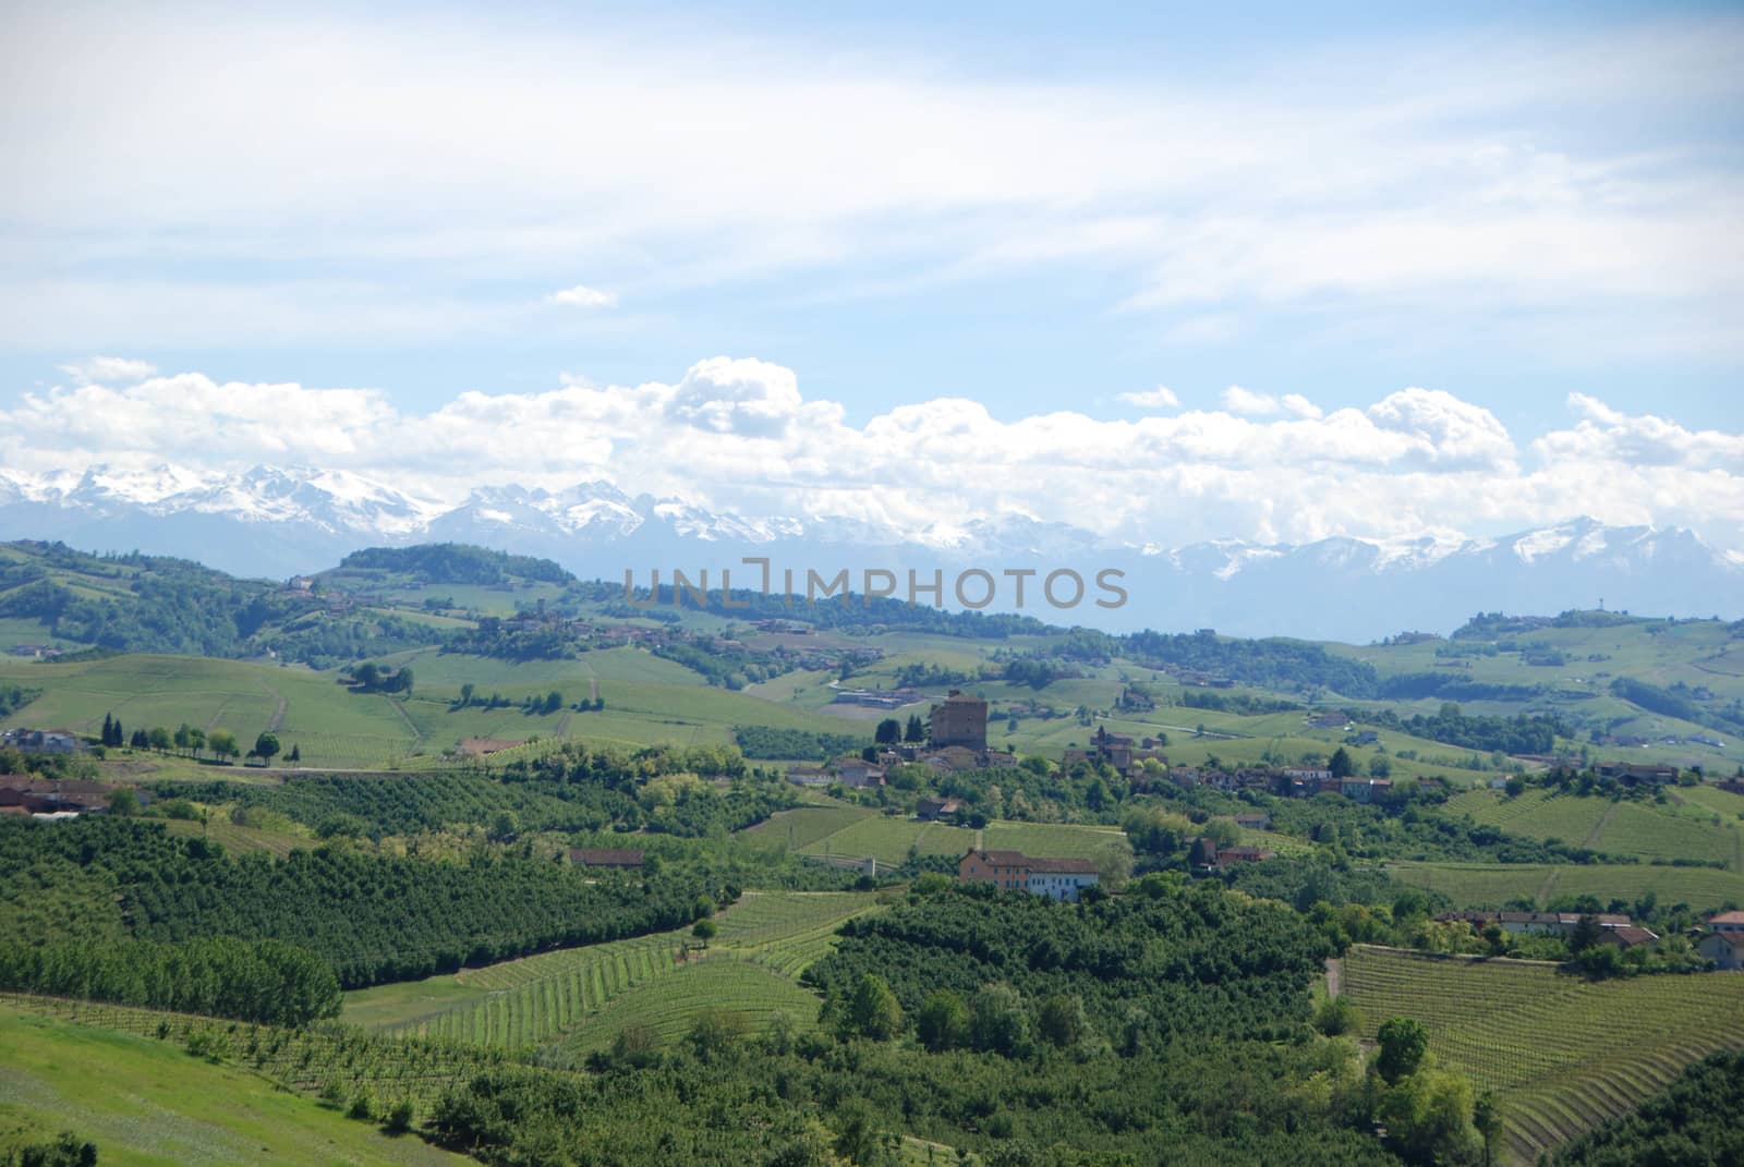
[{"label": "flat light-green field above the houses at the right edge", "polygon": [[1601,904],[1634,904],[1650,891],[1662,905],[1688,904],[1707,911],[1744,904],[1744,876],[1706,867],[1648,863],[1388,863],[1393,879],[1442,891],[1458,907],[1503,907],[1512,900],[1538,905],[1561,897],[1591,895]]}]

